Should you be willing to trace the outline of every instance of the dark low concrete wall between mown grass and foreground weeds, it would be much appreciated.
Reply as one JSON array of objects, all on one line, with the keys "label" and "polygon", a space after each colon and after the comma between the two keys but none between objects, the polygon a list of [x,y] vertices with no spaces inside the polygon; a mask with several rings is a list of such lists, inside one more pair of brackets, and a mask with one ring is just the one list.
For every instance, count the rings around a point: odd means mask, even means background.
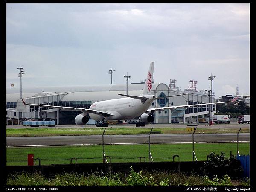
[{"label": "dark low concrete wall between mown grass and foreground weeds", "polygon": [[[38,172],[40,171],[45,176],[62,174],[64,172],[77,172],[77,173],[117,173],[131,171],[132,166],[134,171],[140,170],[159,170],[159,171],[176,171],[186,173],[198,173],[202,170],[205,161],[189,161],[189,162],[141,162],[141,163],[81,163],[75,164],[56,164],[56,165],[42,165],[42,166],[6,166],[6,175],[14,174],[15,172]],[[38,160],[36,161],[38,164]]]}]

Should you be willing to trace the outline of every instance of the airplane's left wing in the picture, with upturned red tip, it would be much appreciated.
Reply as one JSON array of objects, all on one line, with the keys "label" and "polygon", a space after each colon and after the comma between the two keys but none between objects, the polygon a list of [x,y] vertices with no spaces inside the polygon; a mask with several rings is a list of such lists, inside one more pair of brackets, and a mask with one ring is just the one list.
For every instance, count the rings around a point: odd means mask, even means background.
[{"label": "airplane's left wing in the picture, with upturned red tip", "polygon": [[56,108],[56,109],[64,109],[64,110],[73,110],[73,111],[81,111],[81,112],[88,112],[88,113],[94,113],[97,115],[103,115],[103,116],[112,116],[113,114],[106,112],[106,111],[98,111],[93,109],[85,109],[85,108],[72,108],[72,107],[61,107],[61,106],[54,106],[54,105],[39,105],[39,104],[29,104],[25,103],[23,99],[21,99],[24,105],[33,105],[38,107],[47,107],[47,108]]}]

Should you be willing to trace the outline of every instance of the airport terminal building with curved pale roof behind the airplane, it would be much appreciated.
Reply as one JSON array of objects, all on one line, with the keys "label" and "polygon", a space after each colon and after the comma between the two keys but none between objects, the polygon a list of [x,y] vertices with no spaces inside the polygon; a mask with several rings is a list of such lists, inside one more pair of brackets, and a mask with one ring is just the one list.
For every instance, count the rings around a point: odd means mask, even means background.
[{"label": "airport terminal building with curved pale roof behind the airplane", "polygon": [[[140,95],[143,93],[143,87],[144,84],[142,83],[128,84],[128,94],[134,96]],[[195,92],[187,89],[180,91],[178,89],[172,89],[164,83],[153,84],[152,90],[152,94],[156,97],[188,93],[187,95],[155,100],[152,103],[152,108],[209,103],[209,96],[202,91]],[[119,96],[118,93],[126,94],[126,84],[75,87],[23,87],[22,98],[26,103],[30,104],[90,108],[97,101],[122,98],[123,96]],[[215,102],[214,98],[213,102]],[[215,112],[215,105],[213,105],[213,113]],[[8,124],[13,124],[14,122],[20,124],[25,119],[49,119],[55,120],[55,124],[75,124],[74,119],[80,113],[79,111],[25,106],[20,99],[19,88],[12,87],[6,89],[6,123]],[[198,116],[206,114],[209,114],[209,105],[195,106],[187,109],[166,109],[164,111],[156,111],[153,116],[154,123],[172,123],[176,121],[187,123],[192,117],[198,122]],[[94,124],[92,119],[90,120],[87,124]]]}]

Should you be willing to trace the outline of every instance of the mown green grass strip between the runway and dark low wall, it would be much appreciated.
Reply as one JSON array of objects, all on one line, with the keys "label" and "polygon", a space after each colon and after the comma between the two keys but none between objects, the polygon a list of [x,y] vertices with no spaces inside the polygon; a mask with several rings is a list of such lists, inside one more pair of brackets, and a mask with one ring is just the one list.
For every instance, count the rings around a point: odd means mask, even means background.
[{"label": "mown green grass strip between the runway and dark low wall", "polygon": [[[195,154],[198,160],[206,160],[211,151],[215,154],[224,152],[226,157],[230,151],[236,154],[236,143],[195,143]],[[239,143],[239,153],[249,154],[249,143]],[[27,165],[27,154],[41,159],[41,165],[70,163],[70,158],[78,158],[77,163],[102,163],[102,145],[67,146],[67,147],[35,147],[6,148],[6,165]],[[192,160],[192,144],[151,144],[154,162],[172,161],[177,154],[180,161]],[[148,159],[148,145],[105,145],[105,155],[111,157],[111,163],[139,162],[139,157]],[[107,159],[108,160],[108,159]],[[175,161],[177,161],[177,157]],[[109,160],[108,160],[109,162]],[[75,160],[73,160],[75,163]],[[36,162],[38,165],[38,161]]]}]

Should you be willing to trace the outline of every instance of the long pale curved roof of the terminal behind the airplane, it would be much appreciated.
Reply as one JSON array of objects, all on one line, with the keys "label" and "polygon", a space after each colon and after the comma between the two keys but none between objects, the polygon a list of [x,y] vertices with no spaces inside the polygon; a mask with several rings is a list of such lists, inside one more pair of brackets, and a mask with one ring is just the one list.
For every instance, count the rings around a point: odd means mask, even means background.
[{"label": "long pale curved roof of the terminal behind the airplane", "polygon": [[[153,89],[157,84],[153,84]],[[128,84],[128,94],[140,95],[144,84]],[[44,91],[44,92],[43,92]],[[36,97],[57,93],[69,93],[62,101],[79,100],[102,100],[122,98],[118,93],[126,94],[126,84],[86,85],[86,86],[65,86],[65,87],[23,87],[22,97]],[[84,94],[86,92],[86,94]],[[84,98],[86,96],[86,98]],[[20,88],[6,88],[6,102],[17,102],[20,99]]]}]

